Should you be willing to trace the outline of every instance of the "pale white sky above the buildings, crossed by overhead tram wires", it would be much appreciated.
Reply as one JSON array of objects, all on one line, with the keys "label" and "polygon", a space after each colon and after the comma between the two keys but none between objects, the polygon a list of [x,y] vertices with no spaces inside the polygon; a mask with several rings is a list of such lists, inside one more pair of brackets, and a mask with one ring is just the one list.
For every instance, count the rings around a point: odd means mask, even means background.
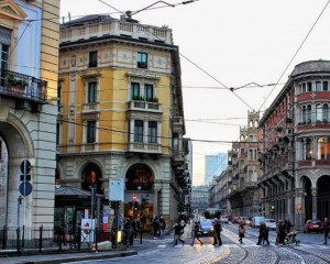
[{"label": "pale white sky above the buildings, crossed by overhead tram wires", "polygon": [[[138,11],[157,2],[103,1],[120,11]],[[186,138],[226,142],[238,140],[240,125],[246,124],[248,110],[264,111],[287,81],[295,65],[306,61],[330,59],[330,7],[311,30],[329,1],[199,0],[133,15],[142,24],[168,25],[173,30],[174,44],[179,46],[182,54]],[[166,2],[176,4],[182,1]],[[164,6],[158,3],[154,7]],[[72,19],[92,13],[107,13],[119,19],[120,13],[114,9],[99,0],[61,0],[61,15],[66,19],[68,12]],[[310,30],[308,38],[289,65]],[[237,88],[250,82],[279,85],[263,107],[274,86],[260,88],[253,85],[237,90],[243,102],[221,85]],[[215,89],[219,87],[222,89]],[[205,155],[227,152],[231,144],[196,141],[193,145],[193,184],[201,185]]]}]

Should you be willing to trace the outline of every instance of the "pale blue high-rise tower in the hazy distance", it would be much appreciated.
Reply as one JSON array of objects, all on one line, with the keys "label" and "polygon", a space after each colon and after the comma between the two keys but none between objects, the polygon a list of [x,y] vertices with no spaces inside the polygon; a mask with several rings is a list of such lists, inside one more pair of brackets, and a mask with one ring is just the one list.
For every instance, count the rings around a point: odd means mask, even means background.
[{"label": "pale blue high-rise tower in the hazy distance", "polygon": [[212,183],[212,179],[219,176],[227,167],[227,153],[217,155],[206,155],[205,161],[205,185]]}]

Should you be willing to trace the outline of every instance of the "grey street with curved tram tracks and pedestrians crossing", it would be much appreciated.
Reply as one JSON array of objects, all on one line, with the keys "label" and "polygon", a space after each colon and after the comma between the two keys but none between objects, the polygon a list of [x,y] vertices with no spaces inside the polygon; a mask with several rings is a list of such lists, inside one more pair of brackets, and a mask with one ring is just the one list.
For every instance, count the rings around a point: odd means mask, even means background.
[{"label": "grey street with curved tram tracks and pedestrians crossing", "polygon": [[[299,233],[300,245],[274,245],[275,231],[270,232],[271,245],[256,245],[257,229],[246,227],[243,244],[238,241],[238,226],[224,224],[222,232],[223,246],[213,246],[212,238],[204,237],[204,245],[198,242],[191,246],[191,238],[187,235],[185,245],[173,246],[173,239],[150,239],[151,246],[139,251],[138,255],[98,263],[330,263],[330,245],[323,245],[322,234]],[[86,261],[84,263],[95,263]],[[79,262],[81,263],[81,262]]]}]

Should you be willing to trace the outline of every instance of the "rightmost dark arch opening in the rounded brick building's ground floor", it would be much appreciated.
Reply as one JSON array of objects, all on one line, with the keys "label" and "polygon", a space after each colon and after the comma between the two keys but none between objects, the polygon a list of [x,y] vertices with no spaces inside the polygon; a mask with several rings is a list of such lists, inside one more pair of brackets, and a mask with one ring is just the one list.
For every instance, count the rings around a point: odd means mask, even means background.
[{"label": "rightmost dark arch opening in the rounded brick building's ground floor", "polygon": [[323,175],[317,180],[317,208],[318,218],[323,220],[330,216],[330,176]]}]

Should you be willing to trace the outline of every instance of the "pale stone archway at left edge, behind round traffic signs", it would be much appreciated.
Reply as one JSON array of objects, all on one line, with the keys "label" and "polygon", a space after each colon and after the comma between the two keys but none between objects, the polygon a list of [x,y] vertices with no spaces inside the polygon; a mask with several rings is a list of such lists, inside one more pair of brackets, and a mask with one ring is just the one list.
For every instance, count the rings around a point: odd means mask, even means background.
[{"label": "pale stone archway at left edge, behind round traffic signs", "polygon": [[[25,127],[18,119],[9,116],[9,121],[10,120],[12,122],[0,121],[1,152],[3,155],[0,162],[0,224],[1,227],[4,224],[7,227],[18,227],[18,224],[31,227],[33,221],[33,194],[23,200],[23,204],[20,206],[20,213],[18,211],[18,199],[21,196],[19,193],[19,186],[21,184],[20,165],[22,161],[33,156],[32,140]],[[2,195],[6,195],[3,200]],[[20,219],[18,219],[19,215]]]}]

